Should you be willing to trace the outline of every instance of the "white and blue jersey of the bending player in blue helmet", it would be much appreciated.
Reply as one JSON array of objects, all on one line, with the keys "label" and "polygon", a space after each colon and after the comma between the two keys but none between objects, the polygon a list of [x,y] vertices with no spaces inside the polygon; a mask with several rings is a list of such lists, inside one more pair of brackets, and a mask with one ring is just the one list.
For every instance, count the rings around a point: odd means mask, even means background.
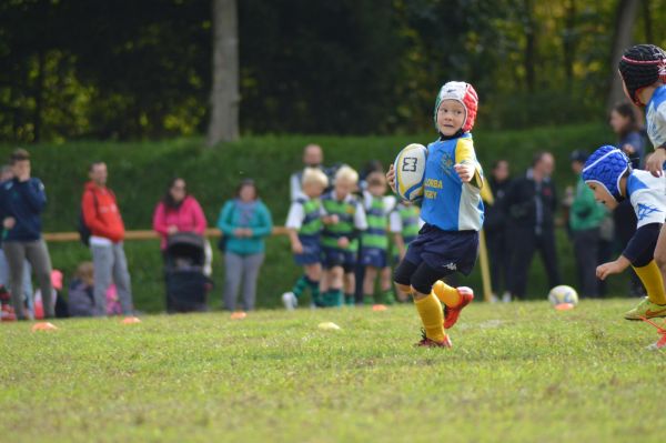
[{"label": "white and blue jersey of the bending player in blue helmet", "polygon": [[632,171],[627,178],[627,194],[640,228],[664,223],[666,217],[666,175],[654,177],[647,171]]}]

